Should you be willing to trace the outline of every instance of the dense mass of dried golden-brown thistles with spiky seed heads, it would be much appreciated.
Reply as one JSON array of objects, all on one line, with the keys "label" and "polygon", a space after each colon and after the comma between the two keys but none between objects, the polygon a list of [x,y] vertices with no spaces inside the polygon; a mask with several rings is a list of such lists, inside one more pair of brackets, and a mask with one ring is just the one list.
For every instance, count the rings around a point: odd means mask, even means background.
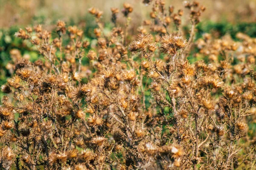
[{"label": "dense mass of dried golden-brown thistles with spiky seed heads", "polygon": [[[98,24],[95,48],[81,29],[63,21],[56,24],[55,38],[40,25],[16,33],[41,57],[30,62],[19,51],[11,53],[7,68],[14,75],[2,86],[0,106],[1,168],[255,167],[250,125],[256,113],[256,40],[242,33],[241,42],[204,34],[194,42],[204,6],[184,2],[189,11],[175,11],[164,0],[143,3],[153,4],[151,20],[131,42],[128,3],[123,16],[111,8],[110,34],[102,12],[89,9]],[[181,31],[186,12],[188,40]],[[125,18],[124,27],[117,17]],[[204,61],[190,63],[189,55]]]}]

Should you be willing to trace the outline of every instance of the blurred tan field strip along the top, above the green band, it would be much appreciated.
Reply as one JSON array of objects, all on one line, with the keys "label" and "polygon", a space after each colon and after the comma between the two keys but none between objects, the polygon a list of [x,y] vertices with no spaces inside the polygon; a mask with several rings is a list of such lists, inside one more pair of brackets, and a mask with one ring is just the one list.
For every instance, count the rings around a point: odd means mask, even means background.
[{"label": "blurred tan field strip along the top, above the green band", "polygon": [[[111,7],[121,7],[125,0],[0,0],[0,28],[31,23],[52,23],[55,20],[79,22],[87,15],[87,9],[96,6],[109,18]],[[180,0],[166,0],[176,8]],[[206,6],[204,20],[231,23],[255,22],[256,0],[199,0]],[[142,0],[129,0],[138,20],[145,17],[146,6]]]}]

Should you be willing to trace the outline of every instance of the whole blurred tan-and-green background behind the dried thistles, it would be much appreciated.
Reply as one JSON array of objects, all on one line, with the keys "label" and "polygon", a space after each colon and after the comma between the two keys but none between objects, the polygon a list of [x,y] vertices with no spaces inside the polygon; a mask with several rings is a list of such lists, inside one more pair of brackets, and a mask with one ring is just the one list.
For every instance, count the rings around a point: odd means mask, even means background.
[{"label": "whole blurred tan-and-green background behind the dried thistles", "polygon": [[[151,5],[146,6],[143,0],[129,0],[134,7],[131,14],[132,20],[129,26],[131,37],[137,34],[137,28],[142,26],[143,20],[149,19],[148,12]],[[145,0],[146,1],[146,0]],[[216,37],[230,34],[234,39],[236,33],[243,32],[250,37],[256,37],[256,0],[198,0],[206,6],[202,16],[202,22],[198,25],[196,38],[204,33],[212,33]],[[64,20],[67,25],[78,25],[85,32],[88,40],[95,39],[93,29],[96,23],[88,14],[88,8],[96,7],[103,11],[103,19],[110,31],[111,7],[122,8],[125,0],[0,0],[0,85],[6,82],[12,73],[6,70],[10,60],[10,53],[20,51],[21,55],[27,55],[31,60],[38,58],[35,48],[25,44],[14,36],[19,28],[42,24],[44,28],[52,30],[57,20]],[[175,6],[175,11],[183,6],[180,0],[166,0],[167,5]],[[186,11],[184,11],[185,17]],[[117,15],[119,23],[125,23],[122,13]],[[183,19],[184,30],[189,21]],[[16,50],[17,49],[17,50]]]}]

